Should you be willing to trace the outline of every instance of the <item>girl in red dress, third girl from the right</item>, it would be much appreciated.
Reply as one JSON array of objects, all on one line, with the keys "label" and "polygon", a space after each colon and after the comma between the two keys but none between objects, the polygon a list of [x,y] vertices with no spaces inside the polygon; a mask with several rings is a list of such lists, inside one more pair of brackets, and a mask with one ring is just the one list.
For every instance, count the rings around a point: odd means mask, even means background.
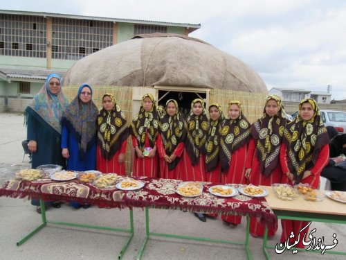
[{"label": "girl in red dress, third girl from the right", "polygon": [[[242,103],[228,103],[228,119],[220,127],[221,182],[246,184],[245,159],[251,139],[251,123],[242,114]],[[222,220],[233,226],[242,222],[242,216],[222,215]]]}]

